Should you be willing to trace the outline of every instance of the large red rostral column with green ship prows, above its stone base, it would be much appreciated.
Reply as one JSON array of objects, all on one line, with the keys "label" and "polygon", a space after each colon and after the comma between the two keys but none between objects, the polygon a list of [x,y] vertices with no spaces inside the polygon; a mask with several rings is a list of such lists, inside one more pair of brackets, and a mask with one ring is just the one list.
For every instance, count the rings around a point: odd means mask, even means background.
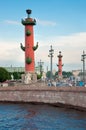
[{"label": "large red rostral column with green ship prows, above its stone base", "polygon": [[25,51],[25,71],[34,72],[35,71],[35,60],[34,51],[38,47],[38,43],[34,46],[34,31],[33,25],[36,25],[36,20],[30,18],[31,10],[26,10],[27,18],[22,19],[22,24],[25,26],[25,47],[21,43],[21,49]]}]

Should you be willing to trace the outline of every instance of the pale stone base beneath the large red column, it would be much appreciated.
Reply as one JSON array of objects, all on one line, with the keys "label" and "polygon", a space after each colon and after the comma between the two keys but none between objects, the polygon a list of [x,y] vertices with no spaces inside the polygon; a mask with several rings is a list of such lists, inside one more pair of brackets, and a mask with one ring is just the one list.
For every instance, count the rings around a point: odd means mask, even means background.
[{"label": "pale stone base beneath the large red column", "polygon": [[25,84],[37,82],[37,74],[34,72],[26,72],[22,75],[22,82]]}]

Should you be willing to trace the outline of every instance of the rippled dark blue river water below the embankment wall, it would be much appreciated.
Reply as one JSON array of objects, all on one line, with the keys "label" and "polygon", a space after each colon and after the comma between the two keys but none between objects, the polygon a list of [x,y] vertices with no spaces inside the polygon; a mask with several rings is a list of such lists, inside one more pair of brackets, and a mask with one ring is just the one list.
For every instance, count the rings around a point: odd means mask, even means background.
[{"label": "rippled dark blue river water below the embankment wall", "polygon": [[86,130],[86,112],[50,105],[0,103],[0,130]]}]

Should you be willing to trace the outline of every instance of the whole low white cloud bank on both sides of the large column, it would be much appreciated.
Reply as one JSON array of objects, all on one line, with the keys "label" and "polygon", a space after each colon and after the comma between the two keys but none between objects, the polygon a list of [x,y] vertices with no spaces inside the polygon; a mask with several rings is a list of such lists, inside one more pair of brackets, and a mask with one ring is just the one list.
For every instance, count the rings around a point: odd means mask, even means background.
[{"label": "whole low white cloud bank on both sides of the large column", "polygon": [[[49,38],[49,37],[48,37]],[[52,40],[54,39],[54,40]],[[52,43],[50,43],[52,41]],[[68,36],[50,37],[46,41],[39,41],[39,48],[35,52],[36,62],[40,59],[50,66],[50,58],[48,57],[50,45],[54,49],[53,66],[58,63],[58,53],[62,52],[65,70],[81,69],[81,55],[83,50],[86,51],[86,32],[80,32]],[[0,66],[1,65],[24,66],[24,52],[20,49],[20,45],[14,41],[0,41]],[[57,69],[57,67],[56,67]]]}]

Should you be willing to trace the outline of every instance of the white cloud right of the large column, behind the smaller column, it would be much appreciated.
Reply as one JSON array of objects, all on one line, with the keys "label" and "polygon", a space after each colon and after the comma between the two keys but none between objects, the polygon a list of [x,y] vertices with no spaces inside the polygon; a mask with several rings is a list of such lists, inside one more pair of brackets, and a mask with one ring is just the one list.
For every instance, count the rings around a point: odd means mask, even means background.
[{"label": "white cloud right of the large column, behind the smaller column", "polygon": [[[52,41],[52,43],[50,43],[50,41]],[[68,36],[48,37],[46,41],[39,43],[39,50],[36,53],[36,55],[39,56],[37,59],[50,62],[48,54],[51,44],[54,49],[54,64],[58,63],[57,55],[59,51],[62,51],[63,68],[70,68],[70,70],[82,68],[81,55],[83,50],[86,50],[86,32],[75,33]]]}]

